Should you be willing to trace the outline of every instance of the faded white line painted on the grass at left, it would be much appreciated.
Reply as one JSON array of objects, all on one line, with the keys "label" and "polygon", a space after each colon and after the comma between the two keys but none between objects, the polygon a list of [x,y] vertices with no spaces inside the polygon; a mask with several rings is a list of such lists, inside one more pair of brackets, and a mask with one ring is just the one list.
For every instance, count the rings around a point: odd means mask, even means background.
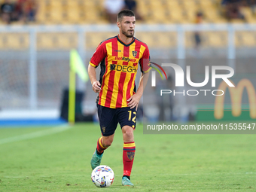
[{"label": "faded white line painted on the grass at left", "polygon": [[5,144],[5,143],[10,143],[10,142],[19,142],[19,141],[23,141],[26,139],[34,139],[37,137],[41,137],[41,136],[48,136],[54,133],[59,133],[65,130],[69,130],[72,126],[69,125],[61,125],[61,126],[56,126],[47,130],[42,130],[42,131],[37,131],[34,133],[28,133],[28,134],[24,134],[21,136],[14,136],[14,137],[8,137],[5,139],[0,139],[0,145]]}]

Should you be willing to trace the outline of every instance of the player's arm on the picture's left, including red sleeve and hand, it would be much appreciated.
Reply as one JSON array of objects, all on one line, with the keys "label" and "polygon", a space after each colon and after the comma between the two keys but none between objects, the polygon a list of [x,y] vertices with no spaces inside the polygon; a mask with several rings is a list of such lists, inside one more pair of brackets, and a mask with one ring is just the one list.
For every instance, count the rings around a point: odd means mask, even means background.
[{"label": "player's arm on the picture's left, including red sleeve and hand", "polygon": [[90,83],[92,84],[93,91],[95,93],[99,93],[101,90],[101,84],[96,79],[96,67],[99,66],[99,63],[102,61],[102,59],[105,59],[105,56],[107,56],[107,50],[105,48],[105,44],[101,43],[93,53],[93,56],[90,59],[90,64],[88,66]]}]

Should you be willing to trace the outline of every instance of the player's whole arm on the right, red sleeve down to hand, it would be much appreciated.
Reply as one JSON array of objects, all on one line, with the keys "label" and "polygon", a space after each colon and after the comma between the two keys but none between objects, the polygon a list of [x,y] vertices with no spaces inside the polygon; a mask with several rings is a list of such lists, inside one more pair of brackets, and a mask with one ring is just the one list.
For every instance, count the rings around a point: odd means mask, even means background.
[{"label": "player's whole arm on the right, red sleeve down to hand", "polygon": [[148,47],[146,47],[142,58],[140,59],[140,65],[141,65],[141,69],[142,69],[142,75],[141,78],[139,79],[139,87],[137,92],[131,96],[128,100],[127,100],[127,106],[130,108],[138,108],[139,105],[139,100],[142,97],[143,91],[148,83],[148,77],[149,77],[149,71],[151,70],[151,66],[149,64],[149,50]]}]

